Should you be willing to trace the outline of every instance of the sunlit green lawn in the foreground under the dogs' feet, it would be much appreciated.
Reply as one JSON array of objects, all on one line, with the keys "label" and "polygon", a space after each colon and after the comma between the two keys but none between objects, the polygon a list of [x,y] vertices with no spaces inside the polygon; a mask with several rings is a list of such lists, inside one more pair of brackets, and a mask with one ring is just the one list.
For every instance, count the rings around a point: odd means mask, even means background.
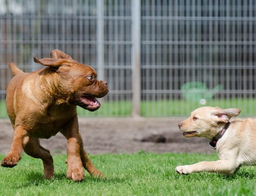
[{"label": "sunlit green lawn in the foreground under the dogs' feet", "polygon": [[[2,159],[4,156],[1,155]],[[90,156],[106,178],[86,172],[82,182],[66,179],[66,156],[54,156],[55,179],[42,180],[42,163],[23,155],[14,168],[0,168],[0,195],[256,195],[256,169],[242,166],[231,176],[193,173],[183,176],[177,165],[217,160],[216,154],[153,154]]]}]

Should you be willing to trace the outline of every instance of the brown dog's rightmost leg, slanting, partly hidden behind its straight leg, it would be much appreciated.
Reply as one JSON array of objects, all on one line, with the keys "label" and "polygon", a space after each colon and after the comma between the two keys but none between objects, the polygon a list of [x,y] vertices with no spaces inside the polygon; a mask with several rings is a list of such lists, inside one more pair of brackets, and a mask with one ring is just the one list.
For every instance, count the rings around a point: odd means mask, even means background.
[{"label": "brown dog's rightmost leg, slanting, partly hidden behind its straight leg", "polygon": [[103,173],[101,173],[92,163],[92,161],[89,159],[86,151],[83,149],[83,142],[82,137],[79,133],[79,143],[80,143],[80,156],[82,160],[83,167],[90,173],[90,175],[95,177],[104,177]]}]

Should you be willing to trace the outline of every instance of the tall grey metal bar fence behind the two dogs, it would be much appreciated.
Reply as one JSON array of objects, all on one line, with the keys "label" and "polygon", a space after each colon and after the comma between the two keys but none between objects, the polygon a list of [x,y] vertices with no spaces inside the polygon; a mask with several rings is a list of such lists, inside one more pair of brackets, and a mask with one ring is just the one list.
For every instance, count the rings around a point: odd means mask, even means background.
[{"label": "tall grey metal bar fence behind the two dogs", "polygon": [[53,49],[89,64],[110,93],[83,116],[184,116],[203,105],[256,115],[256,3],[0,0],[0,117],[8,62],[31,72]]}]

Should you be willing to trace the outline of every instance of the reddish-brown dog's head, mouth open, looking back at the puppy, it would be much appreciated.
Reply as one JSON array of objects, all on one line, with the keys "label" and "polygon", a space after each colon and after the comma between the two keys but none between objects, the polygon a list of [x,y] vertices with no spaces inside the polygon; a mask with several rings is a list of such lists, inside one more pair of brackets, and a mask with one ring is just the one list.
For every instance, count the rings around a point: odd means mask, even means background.
[{"label": "reddish-brown dog's head, mouth open, looking back at the puppy", "polygon": [[100,103],[95,97],[101,98],[109,92],[106,81],[98,81],[93,68],[73,60],[59,50],[53,50],[50,54],[51,58],[38,59],[33,56],[35,62],[49,67],[39,74],[45,77],[45,85],[51,89],[50,93],[58,94],[65,102],[86,110],[97,110]]}]

